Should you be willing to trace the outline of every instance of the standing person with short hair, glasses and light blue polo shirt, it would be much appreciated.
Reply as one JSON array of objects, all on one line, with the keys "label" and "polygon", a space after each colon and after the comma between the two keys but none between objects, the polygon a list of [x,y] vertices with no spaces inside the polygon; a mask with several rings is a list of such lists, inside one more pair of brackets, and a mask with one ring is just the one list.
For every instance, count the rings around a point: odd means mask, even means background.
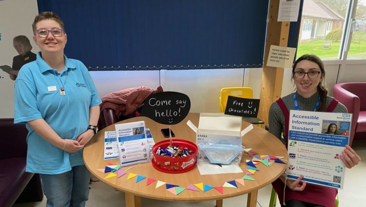
[{"label": "standing person with short hair, glasses and light blue polo shirt", "polygon": [[84,64],[63,54],[62,20],[42,12],[32,26],[41,52],[15,82],[14,123],[29,131],[26,171],[41,174],[47,207],[84,207],[90,172],[82,149],[98,130],[101,99]]}]

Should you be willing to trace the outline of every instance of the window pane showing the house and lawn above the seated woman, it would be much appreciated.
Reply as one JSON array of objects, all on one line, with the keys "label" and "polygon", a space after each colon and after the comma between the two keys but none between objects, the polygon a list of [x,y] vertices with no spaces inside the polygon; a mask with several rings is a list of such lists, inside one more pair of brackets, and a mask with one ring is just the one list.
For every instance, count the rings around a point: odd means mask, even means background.
[{"label": "window pane showing the house and lawn above the seated woman", "polygon": [[304,0],[297,58],[314,54],[339,59],[348,4],[349,0]]}]

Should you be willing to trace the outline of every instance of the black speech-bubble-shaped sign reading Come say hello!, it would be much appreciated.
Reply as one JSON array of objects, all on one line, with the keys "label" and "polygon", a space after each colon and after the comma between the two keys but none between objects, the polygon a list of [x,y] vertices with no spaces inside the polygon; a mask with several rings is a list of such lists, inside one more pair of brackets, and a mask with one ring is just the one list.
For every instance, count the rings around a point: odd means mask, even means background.
[{"label": "black speech-bubble-shaped sign reading Come say hello!", "polygon": [[144,101],[140,116],[146,116],[160,124],[178,124],[189,113],[191,101],[186,94],[162,92],[151,94]]}]

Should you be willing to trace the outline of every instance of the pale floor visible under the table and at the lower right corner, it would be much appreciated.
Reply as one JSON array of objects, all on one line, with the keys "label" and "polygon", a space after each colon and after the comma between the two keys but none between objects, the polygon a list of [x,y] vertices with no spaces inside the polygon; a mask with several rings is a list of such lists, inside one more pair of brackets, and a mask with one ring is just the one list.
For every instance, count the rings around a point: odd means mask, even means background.
[{"label": "pale floor visible under the table and at the lower right corner", "polygon": [[[339,190],[339,207],[364,207],[365,206],[365,180],[366,172],[366,139],[354,140],[353,149],[361,156],[361,163],[353,169],[346,170],[345,187]],[[105,185],[102,182],[93,182],[90,185],[89,201],[86,207],[124,207],[124,193]],[[257,207],[267,207],[272,187],[266,186],[259,190]],[[224,199],[224,207],[245,207],[246,195]],[[15,204],[13,207],[45,207],[46,199],[42,202]],[[142,198],[142,207],[214,207],[215,201],[204,202],[167,202]],[[280,204],[277,201],[277,207]]]}]

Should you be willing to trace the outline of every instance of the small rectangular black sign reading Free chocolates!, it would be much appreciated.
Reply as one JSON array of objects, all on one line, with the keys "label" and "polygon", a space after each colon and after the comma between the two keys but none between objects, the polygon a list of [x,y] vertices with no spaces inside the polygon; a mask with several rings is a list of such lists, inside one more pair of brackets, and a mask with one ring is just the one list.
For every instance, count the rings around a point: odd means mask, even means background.
[{"label": "small rectangular black sign reading Free chocolates!", "polygon": [[225,114],[234,116],[257,117],[259,99],[228,96]]}]

